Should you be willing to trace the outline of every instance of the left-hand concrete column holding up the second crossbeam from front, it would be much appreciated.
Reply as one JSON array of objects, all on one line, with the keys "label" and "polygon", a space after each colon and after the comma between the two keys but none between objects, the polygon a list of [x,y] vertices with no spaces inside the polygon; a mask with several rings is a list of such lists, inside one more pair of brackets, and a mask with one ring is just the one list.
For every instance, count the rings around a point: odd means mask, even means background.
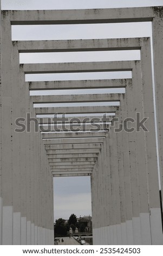
[{"label": "left-hand concrete column holding up the second crossbeam from front", "polygon": [[[12,42],[12,166],[13,166],[13,245],[21,244],[21,137],[15,132],[16,119],[21,118],[19,90],[19,54],[18,44]],[[24,149],[22,149],[23,151]]]}]

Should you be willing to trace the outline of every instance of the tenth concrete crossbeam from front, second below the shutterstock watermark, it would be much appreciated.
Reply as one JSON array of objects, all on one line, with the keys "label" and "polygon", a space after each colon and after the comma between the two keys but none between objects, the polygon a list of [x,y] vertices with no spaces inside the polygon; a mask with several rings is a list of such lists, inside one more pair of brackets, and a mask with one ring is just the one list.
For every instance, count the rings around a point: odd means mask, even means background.
[{"label": "tenth concrete crossbeam from front, second below the shutterstock watermark", "polygon": [[62,145],[62,144],[86,144],[86,143],[103,143],[105,141],[105,138],[81,138],[81,139],[73,139],[73,138],[67,138],[67,139],[43,139],[44,145]]}]

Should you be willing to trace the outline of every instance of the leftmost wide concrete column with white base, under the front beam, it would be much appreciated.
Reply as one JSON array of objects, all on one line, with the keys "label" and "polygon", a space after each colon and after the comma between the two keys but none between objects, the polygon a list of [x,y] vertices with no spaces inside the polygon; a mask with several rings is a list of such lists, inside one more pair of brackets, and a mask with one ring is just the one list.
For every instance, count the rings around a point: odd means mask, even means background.
[{"label": "leftmost wide concrete column with white base, under the front beam", "polygon": [[[12,245],[12,61],[10,15],[2,14],[2,245]],[[8,156],[8,157],[6,157]]]}]

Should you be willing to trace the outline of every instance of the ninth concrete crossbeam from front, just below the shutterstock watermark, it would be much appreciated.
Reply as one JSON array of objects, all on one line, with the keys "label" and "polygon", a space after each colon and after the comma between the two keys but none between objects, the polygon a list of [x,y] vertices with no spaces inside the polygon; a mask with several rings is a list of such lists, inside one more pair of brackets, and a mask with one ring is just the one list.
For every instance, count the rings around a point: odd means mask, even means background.
[{"label": "ninth concrete crossbeam from front, just below the shutterstock watermark", "polygon": [[65,139],[65,138],[87,138],[96,137],[103,138],[108,137],[108,132],[64,132],[64,133],[42,133],[43,139]]}]

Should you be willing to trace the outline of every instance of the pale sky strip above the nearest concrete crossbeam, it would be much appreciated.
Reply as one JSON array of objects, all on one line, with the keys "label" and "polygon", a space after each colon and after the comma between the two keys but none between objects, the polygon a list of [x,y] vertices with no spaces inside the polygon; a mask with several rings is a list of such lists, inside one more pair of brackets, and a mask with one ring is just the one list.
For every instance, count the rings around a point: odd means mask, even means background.
[{"label": "pale sky strip above the nearest concrete crossbeam", "polygon": [[92,9],[162,5],[162,0],[1,0],[2,9]]}]

